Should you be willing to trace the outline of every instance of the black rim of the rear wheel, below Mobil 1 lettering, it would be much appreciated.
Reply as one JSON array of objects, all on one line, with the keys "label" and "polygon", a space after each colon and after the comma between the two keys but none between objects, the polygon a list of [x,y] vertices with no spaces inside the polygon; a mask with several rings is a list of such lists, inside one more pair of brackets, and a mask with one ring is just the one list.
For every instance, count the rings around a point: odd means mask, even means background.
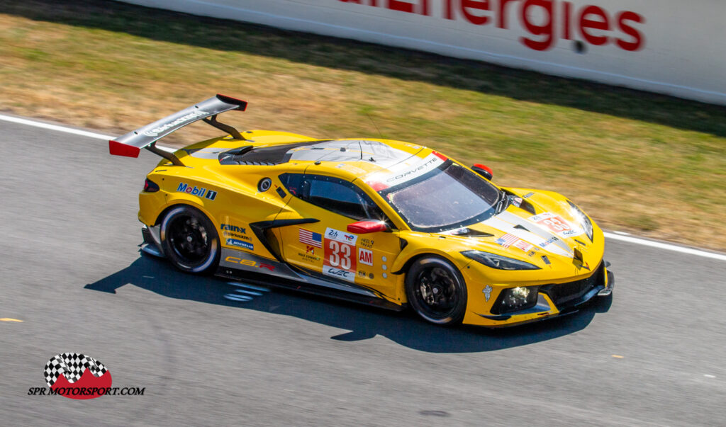
[{"label": "black rim of the rear wheel, below Mobil 1 lettering", "polygon": [[179,215],[168,226],[171,249],[185,264],[197,265],[209,256],[209,234],[197,217]]}]

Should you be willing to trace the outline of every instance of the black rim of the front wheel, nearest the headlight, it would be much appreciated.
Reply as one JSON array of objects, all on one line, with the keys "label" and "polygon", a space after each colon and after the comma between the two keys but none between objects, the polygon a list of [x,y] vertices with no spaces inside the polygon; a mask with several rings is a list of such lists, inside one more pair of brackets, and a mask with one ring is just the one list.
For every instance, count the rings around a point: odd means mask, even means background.
[{"label": "black rim of the front wheel, nearest the headlight", "polygon": [[414,294],[424,314],[435,319],[451,316],[459,303],[456,278],[441,267],[421,271],[416,278]]}]

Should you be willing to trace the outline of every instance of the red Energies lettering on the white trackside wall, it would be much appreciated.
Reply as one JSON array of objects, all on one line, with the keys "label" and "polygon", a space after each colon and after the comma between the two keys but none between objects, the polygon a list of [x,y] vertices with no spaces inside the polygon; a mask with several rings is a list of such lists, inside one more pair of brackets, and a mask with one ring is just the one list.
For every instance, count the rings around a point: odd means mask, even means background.
[{"label": "red Energies lettering on the white trackside wall", "polygon": [[[338,1],[446,20],[463,20],[471,25],[499,30],[519,25],[529,33],[529,36],[520,37],[519,41],[536,51],[551,49],[558,39],[582,40],[594,46],[612,43],[626,51],[637,51],[645,44],[645,17],[642,14],[629,10],[609,12],[595,4],[577,7],[571,1],[557,0]],[[511,19],[513,15],[515,20]]]}]

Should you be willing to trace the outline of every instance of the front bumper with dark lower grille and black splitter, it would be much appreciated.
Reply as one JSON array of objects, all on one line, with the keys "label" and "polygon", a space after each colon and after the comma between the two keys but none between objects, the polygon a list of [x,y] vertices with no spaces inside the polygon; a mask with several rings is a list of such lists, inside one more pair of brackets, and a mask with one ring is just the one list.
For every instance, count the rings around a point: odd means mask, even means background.
[{"label": "front bumper with dark lower grille and black splitter", "polygon": [[467,312],[465,324],[502,328],[518,326],[523,323],[555,318],[579,310],[579,307],[595,297],[607,297],[615,287],[613,273],[607,270],[608,262],[602,262],[595,273],[588,278],[566,283],[539,286],[537,304],[516,312],[503,315]]}]

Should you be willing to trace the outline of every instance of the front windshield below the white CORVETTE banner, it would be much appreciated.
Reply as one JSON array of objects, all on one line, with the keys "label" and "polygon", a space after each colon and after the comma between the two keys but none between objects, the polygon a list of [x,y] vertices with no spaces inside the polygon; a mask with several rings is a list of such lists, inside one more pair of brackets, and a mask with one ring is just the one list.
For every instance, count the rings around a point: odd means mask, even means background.
[{"label": "front windshield below the white CORVETTE banner", "polygon": [[420,178],[379,194],[413,230],[438,232],[491,217],[501,192],[449,160]]}]

